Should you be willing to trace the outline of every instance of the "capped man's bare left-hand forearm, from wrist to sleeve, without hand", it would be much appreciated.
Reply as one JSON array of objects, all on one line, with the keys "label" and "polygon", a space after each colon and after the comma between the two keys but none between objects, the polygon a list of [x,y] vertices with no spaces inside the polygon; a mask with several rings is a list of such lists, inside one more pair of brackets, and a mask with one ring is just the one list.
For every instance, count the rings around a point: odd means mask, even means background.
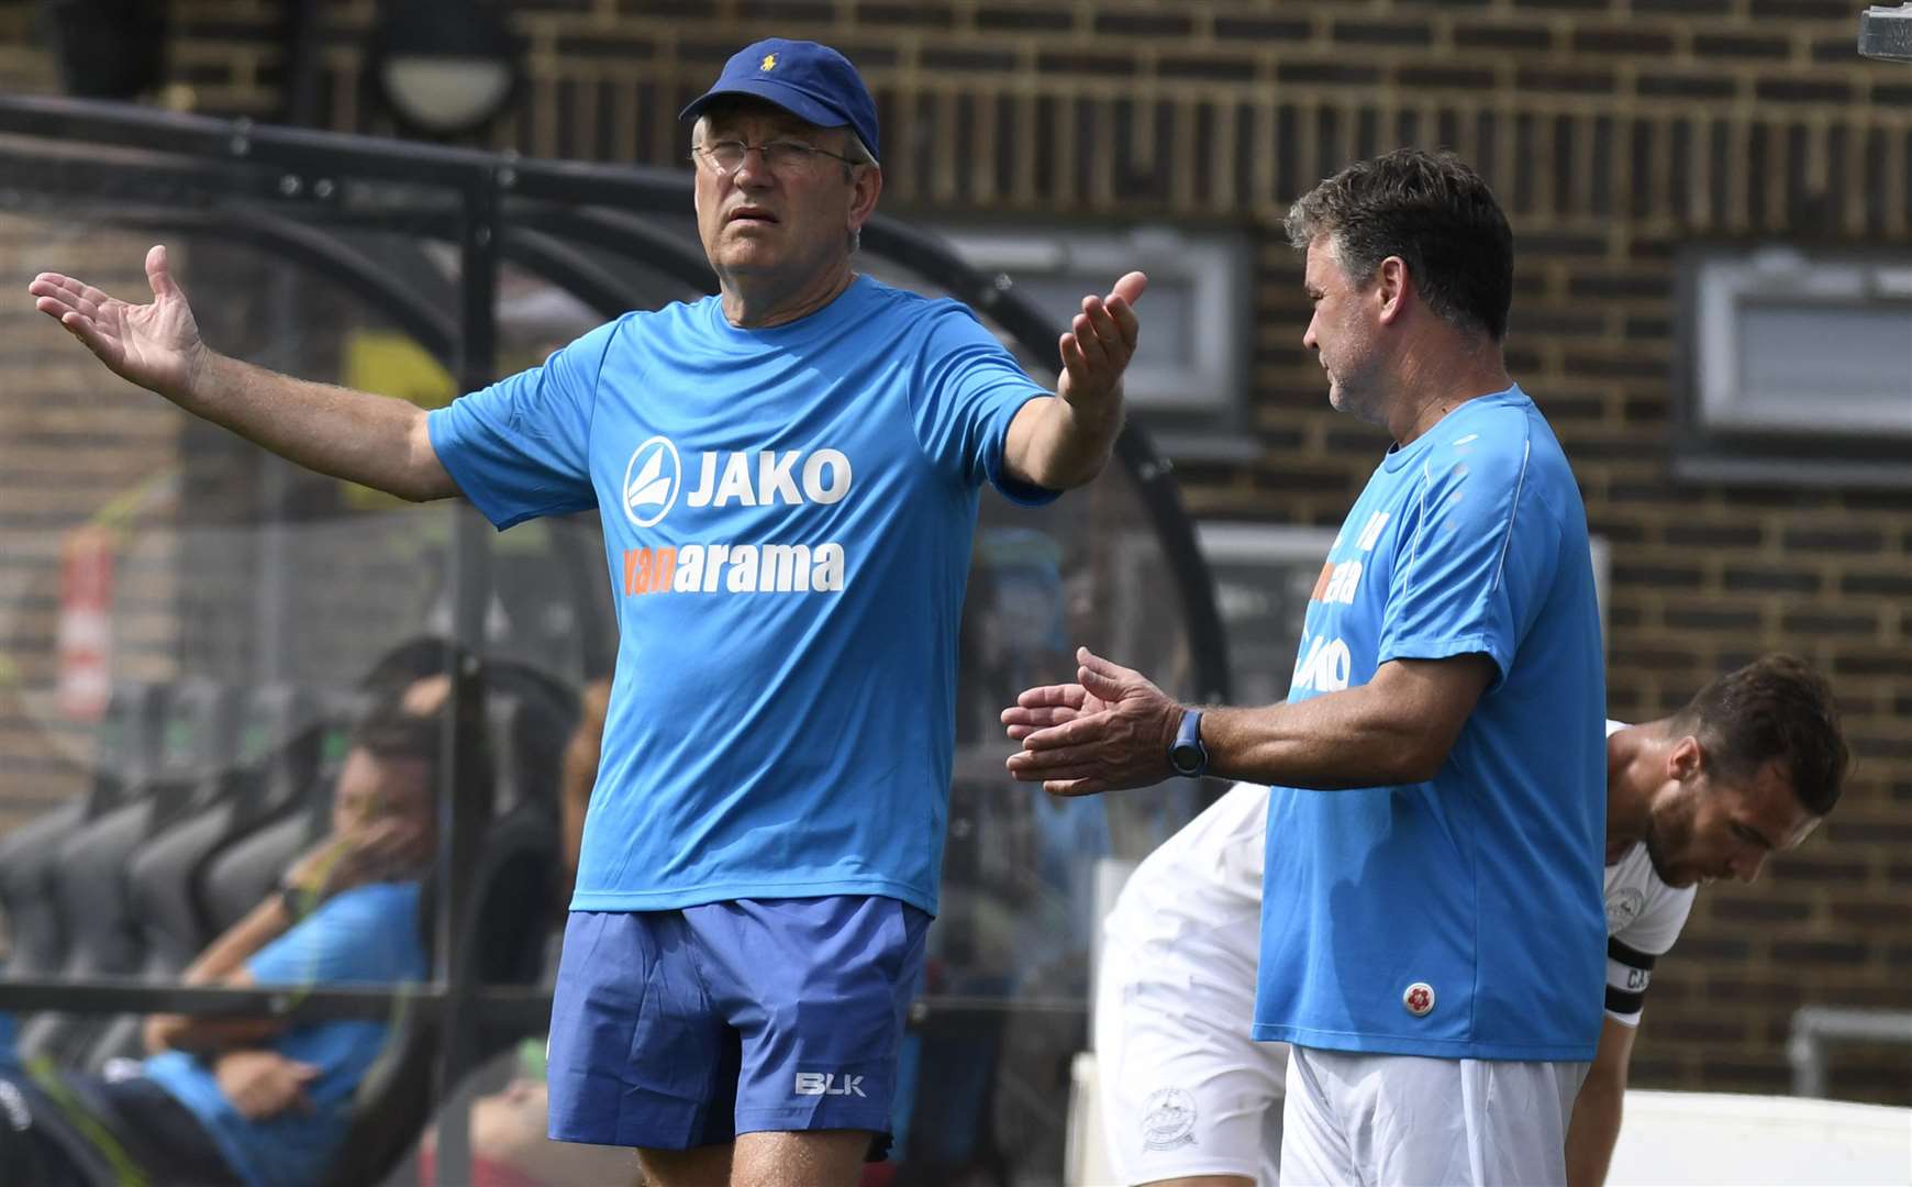
[{"label": "capped man's bare left-hand forearm, from wrist to sleeve, without hand", "polygon": [[308,470],[411,501],[459,493],[430,453],[424,411],[403,399],[279,375],[212,350],[199,356],[185,390],[166,396]]}]

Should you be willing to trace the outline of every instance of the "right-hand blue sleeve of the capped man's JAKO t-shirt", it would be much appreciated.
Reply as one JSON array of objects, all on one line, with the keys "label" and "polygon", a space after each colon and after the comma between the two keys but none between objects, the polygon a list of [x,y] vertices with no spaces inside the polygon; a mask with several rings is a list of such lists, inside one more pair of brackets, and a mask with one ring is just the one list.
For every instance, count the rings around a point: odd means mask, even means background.
[{"label": "right-hand blue sleeve of the capped man's JAKO t-shirt", "polygon": [[920,380],[912,384],[916,440],[950,482],[989,480],[1006,499],[1042,505],[1057,497],[1004,470],[1010,422],[1042,390],[966,306],[935,302],[927,315]]}]

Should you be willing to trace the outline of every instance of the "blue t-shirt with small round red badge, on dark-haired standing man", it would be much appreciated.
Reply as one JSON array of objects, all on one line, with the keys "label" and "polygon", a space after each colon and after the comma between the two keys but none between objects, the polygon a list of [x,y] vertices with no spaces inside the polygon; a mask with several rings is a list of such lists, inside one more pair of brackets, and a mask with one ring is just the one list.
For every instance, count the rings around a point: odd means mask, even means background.
[{"label": "blue t-shirt with small round red badge, on dark-haired standing man", "polygon": [[1587,512],[1520,388],[1388,451],[1308,602],[1289,701],[1390,659],[1497,675],[1432,782],[1275,788],[1254,1038],[1591,1059],[1606,916],[1606,677]]}]

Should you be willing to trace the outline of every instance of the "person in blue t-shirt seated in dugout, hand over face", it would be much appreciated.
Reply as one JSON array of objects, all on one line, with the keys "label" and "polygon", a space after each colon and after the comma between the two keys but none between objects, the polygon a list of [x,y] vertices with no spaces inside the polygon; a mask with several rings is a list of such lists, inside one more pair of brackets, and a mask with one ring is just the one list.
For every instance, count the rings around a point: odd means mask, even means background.
[{"label": "person in blue t-shirt seated in dugout, hand over face", "polygon": [[[451,679],[411,680],[352,734],[331,833],[185,971],[185,984],[423,981],[421,877],[436,847]],[[474,698],[459,698],[476,703]],[[0,1183],[298,1187],[325,1172],[380,1021],[153,1015],[126,1078],[0,1070]]]}]

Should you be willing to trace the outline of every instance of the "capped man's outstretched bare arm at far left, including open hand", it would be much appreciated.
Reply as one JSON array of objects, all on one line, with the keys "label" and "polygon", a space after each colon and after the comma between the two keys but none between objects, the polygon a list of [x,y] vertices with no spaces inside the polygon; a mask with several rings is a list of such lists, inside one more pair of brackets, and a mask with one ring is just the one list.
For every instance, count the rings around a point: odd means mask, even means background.
[{"label": "capped man's outstretched bare arm at far left, including open hand", "polygon": [[220,356],[201,340],[164,247],[145,254],[145,275],[153,287],[145,306],[54,271],[36,275],[27,292],[120,378],[308,470],[411,501],[459,493],[432,449],[423,409]]}]

